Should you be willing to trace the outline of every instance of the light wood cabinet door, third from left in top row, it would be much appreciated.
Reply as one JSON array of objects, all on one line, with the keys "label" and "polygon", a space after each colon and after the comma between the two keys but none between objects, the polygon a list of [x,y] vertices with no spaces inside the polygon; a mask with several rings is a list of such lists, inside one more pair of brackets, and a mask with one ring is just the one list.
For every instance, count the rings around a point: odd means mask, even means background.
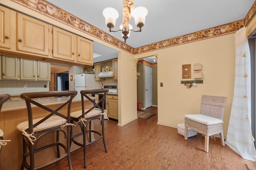
[{"label": "light wood cabinet door, third from left in top row", "polygon": [[75,35],[63,29],[53,27],[52,58],[75,61]]}]

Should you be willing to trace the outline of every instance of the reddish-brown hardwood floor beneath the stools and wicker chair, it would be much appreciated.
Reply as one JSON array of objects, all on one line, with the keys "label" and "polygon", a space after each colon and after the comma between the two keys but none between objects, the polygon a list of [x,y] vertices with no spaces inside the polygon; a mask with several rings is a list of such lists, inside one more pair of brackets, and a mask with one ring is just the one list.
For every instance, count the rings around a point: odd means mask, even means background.
[{"label": "reddish-brown hardwood floor beneath the stools and wicker chair", "polygon": [[[157,108],[145,111],[153,110],[157,113]],[[210,139],[206,153],[202,135],[186,141],[176,128],[157,125],[157,115],[122,127],[106,120],[105,137],[107,153],[102,141],[87,147],[87,170],[256,170],[256,162],[241,158],[227,145],[222,147],[219,138]],[[84,169],[82,148],[71,158],[74,170]],[[67,158],[44,168],[49,169],[68,170]]]}]

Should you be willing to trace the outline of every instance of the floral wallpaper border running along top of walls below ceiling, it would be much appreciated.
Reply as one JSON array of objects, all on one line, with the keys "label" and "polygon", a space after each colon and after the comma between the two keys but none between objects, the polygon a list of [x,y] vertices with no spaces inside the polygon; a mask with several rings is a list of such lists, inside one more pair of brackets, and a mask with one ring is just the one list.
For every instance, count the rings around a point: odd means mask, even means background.
[{"label": "floral wallpaper border running along top of walls below ceiling", "polygon": [[73,16],[72,14],[62,10],[61,8],[58,8],[57,6],[54,6],[50,2],[47,2],[46,0],[11,0],[11,1],[16,2],[22,6],[25,6],[26,8],[29,8],[31,10],[34,10],[40,14],[48,16],[49,18],[60,21],[70,27],[74,27],[75,29],[78,29],[89,35],[92,35],[102,41],[110,43],[134,55],[233,33],[238,29],[244,27],[244,25],[247,25],[250,22],[250,20],[252,20],[253,16],[256,13],[256,2],[254,2],[248,14],[244,18],[244,20],[234,21],[232,23],[227,23],[224,25],[220,25],[218,27],[212,27],[209,29],[204,29],[202,31],[190,33],[187,35],[182,35],[179,37],[174,37],[171,39],[166,39],[164,41],[152,43],[142,47],[133,48],[125,44],[123,41],[120,41],[119,39],[116,39],[115,37],[112,37],[108,33],[105,33],[104,31],[98,29],[97,27],[90,25],[86,21],[83,21],[80,18]]}]

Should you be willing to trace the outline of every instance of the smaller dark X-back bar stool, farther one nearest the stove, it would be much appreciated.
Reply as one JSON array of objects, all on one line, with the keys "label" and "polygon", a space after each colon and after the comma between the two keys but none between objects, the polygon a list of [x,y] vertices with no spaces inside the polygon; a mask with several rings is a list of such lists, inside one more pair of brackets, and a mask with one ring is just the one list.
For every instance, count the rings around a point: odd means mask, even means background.
[{"label": "smaller dark X-back bar stool, farther one nearest the stove", "polygon": [[[105,137],[104,137],[104,104],[105,98],[108,94],[108,89],[95,89],[95,90],[82,90],[81,99],[82,99],[82,110],[75,111],[70,113],[71,123],[76,121],[81,128],[81,133],[76,135],[72,134],[72,127],[71,127],[71,140],[78,146],[84,148],[84,168],[86,168],[86,146],[99,141],[100,139],[103,140],[105,151],[108,152]],[[96,94],[102,94],[102,98],[98,101],[94,101],[90,98],[90,96],[96,96]],[[84,109],[84,98],[89,100],[93,106],[90,109]],[[96,109],[98,107],[98,109]],[[101,130],[92,129],[91,122],[92,121],[100,121]],[[88,127],[87,127],[88,126]],[[88,134],[88,142],[86,143],[86,134]],[[83,137],[82,142],[79,141],[79,136]]]}]

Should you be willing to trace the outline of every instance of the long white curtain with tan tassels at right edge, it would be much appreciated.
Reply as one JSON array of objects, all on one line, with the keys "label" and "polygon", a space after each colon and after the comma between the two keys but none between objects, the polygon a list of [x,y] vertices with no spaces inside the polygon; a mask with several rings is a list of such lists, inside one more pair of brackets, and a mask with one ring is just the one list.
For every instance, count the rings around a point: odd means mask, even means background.
[{"label": "long white curtain with tan tassels at right edge", "polygon": [[251,68],[246,27],[236,31],[235,49],[234,97],[225,143],[242,158],[256,161],[251,130]]}]

